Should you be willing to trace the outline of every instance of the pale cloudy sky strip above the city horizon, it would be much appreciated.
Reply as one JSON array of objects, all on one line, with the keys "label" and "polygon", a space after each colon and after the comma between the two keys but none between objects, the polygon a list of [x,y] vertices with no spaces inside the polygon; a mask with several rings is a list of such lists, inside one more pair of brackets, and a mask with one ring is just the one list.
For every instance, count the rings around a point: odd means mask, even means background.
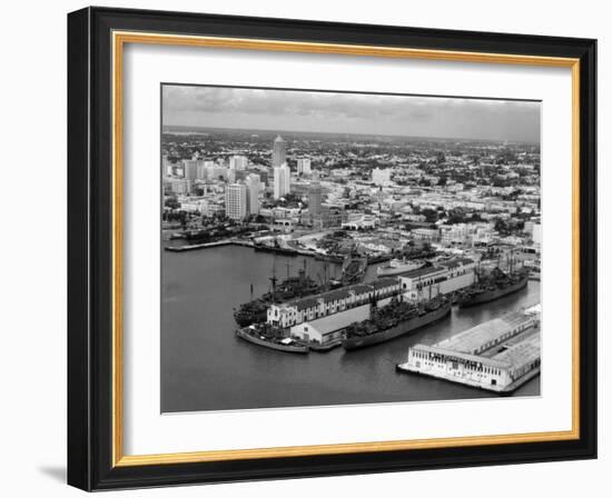
[{"label": "pale cloudy sky strip above the city horizon", "polygon": [[540,142],[540,102],[162,87],[164,126]]}]

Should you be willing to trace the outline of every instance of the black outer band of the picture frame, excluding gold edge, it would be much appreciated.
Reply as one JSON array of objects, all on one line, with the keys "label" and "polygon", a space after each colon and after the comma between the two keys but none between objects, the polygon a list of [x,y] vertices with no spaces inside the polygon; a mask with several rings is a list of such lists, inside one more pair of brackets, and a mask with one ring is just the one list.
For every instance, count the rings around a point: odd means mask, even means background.
[{"label": "black outer band of the picture frame, excluding gold edge", "polygon": [[[111,31],[579,58],[580,439],[111,467]],[[68,14],[68,484],[85,490],[596,458],[596,40],[86,8]]]}]

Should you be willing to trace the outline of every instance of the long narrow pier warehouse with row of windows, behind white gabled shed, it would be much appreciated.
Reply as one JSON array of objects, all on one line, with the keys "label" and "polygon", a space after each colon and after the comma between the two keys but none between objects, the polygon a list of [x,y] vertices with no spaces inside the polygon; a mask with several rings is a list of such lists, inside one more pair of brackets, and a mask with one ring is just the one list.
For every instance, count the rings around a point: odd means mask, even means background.
[{"label": "long narrow pier warehouse with row of windows, behind white gabled shed", "polygon": [[357,306],[368,305],[372,300],[376,300],[378,306],[384,306],[401,291],[401,283],[396,278],[356,283],[288,302],[273,303],[267,311],[267,321],[270,325],[286,329]]}]

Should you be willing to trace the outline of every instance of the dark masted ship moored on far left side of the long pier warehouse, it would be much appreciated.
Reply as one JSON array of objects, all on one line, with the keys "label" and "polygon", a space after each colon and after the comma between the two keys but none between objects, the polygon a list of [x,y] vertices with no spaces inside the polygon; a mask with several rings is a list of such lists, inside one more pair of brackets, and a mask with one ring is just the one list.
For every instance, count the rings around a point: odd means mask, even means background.
[{"label": "dark masted ship moored on far left side of the long pier warehouse", "polygon": [[[305,265],[306,267],[306,261]],[[284,302],[290,299],[309,296],[324,290],[324,287],[315,282],[306,275],[306,268],[300,269],[297,277],[289,277],[277,283],[275,275],[270,277],[272,289],[257,299],[251,299],[234,311],[234,319],[240,327],[266,321],[267,309],[273,302]],[[251,286],[253,292],[253,286]]]}]

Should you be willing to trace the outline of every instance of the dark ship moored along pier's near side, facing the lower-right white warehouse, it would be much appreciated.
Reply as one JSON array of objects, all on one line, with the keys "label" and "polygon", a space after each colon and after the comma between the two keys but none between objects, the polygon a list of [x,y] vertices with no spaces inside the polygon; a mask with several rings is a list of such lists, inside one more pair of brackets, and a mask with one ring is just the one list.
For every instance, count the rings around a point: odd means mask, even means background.
[{"label": "dark ship moored along pier's near side, facing the lower-right white warehouse", "polygon": [[393,298],[381,308],[373,303],[371,318],[349,326],[342,346],[351,351],[386,342],[447,317],[451,309],[451,301],[444,297],[436,297],[425,303]]}]

